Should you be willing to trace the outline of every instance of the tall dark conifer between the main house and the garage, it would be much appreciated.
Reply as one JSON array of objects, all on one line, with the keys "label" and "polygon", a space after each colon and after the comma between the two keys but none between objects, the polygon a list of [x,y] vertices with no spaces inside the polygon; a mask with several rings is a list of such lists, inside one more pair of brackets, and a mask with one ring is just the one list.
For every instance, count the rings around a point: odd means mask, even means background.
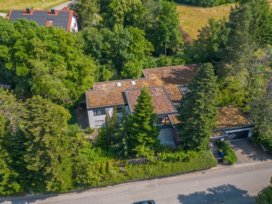
[{"label": "tall dark conifer between the main house and the garage", "polygon": [[191,90],[182,98],[178,108],[180,139],[188,149],[205,149],[215,127],[218,114],[218,91],[213,66],[201,66],[194,81],[188,85]]}]

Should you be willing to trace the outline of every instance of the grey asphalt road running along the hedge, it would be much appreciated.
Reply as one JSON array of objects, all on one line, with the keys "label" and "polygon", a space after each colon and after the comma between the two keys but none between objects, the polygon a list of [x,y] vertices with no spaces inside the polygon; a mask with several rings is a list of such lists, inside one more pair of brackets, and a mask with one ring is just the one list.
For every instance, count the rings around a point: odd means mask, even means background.
[{"label": "grey asphalt road running along the hedge", "polygon": [[253,196],[269,184],[272,162],[254,162],[183,175],[96,188],[76,193],[12,198],[3,203],[133,203],[154,199],[167,203],[253,203]]}]

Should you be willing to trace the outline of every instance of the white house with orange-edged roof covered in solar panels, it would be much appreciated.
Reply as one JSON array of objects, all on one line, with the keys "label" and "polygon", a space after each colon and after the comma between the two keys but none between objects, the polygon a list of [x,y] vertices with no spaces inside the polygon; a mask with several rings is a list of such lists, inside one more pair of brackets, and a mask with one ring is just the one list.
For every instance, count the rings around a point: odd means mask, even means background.
[{"label": "white house with orange-edged roof covered in solar panels", "polygon": [[62,27],[66,32],[78,32],[78,14],[67,7],[62,10],[33,10],[33,9],[12,9],[9,14],[9,20],[18,21],[18,19],[36,21],[39,26]]}]

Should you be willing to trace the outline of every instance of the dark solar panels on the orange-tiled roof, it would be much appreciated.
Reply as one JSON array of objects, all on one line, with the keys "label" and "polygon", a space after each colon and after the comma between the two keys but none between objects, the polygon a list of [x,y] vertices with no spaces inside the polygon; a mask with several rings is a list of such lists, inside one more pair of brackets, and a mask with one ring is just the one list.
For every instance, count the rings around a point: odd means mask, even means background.
[{"label": "dark solar panels on the orange-tiled roof", "polygon": [[46,20],[54,20],[53,26],[62,27],[67,30],[70,11],[60,11],[59,15],[48,15],[47,11],[34,11],[33,15],[23,15],[23,11],[13,11],[11,20],[27,19],[28,21],[36,21],[39,26],[45,26]]}]

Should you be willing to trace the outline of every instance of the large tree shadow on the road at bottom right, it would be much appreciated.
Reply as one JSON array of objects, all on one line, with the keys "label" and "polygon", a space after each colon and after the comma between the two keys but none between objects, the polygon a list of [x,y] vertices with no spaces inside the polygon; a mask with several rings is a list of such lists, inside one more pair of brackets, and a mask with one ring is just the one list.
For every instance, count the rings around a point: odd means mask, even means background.
[{"label": "large tree shadow on the road at bottom right", "polygon": [[[241,198],[250,198],[247,190],[242,190],[231,184],[223,184],[206,191],[194,192],[189,195],[178,195],[178,200],[183,204],[193,203],[221,203],[228,200],[239,200]],[[251,199],[253,199],[251,197]],[[237,202],[238,203],[238,202]]]}]

